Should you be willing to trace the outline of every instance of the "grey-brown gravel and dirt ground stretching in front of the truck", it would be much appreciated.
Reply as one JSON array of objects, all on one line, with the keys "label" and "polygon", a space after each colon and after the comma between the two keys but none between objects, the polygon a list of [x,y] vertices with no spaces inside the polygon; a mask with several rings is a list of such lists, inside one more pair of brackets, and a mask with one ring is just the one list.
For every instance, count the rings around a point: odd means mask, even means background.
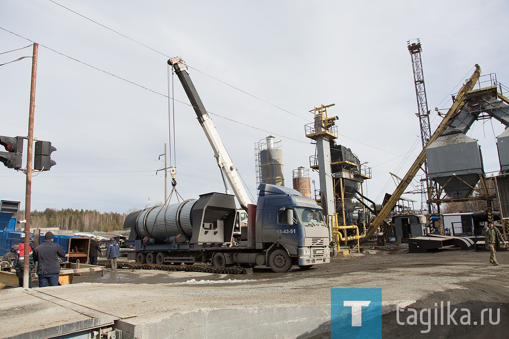
[{"label": "grey-brown gravel and dirt ground stretching in front of the truck", "polygon": [[[383,337],[469,338],[484,334],[498,338],[507,337],[509,331],[509,252],[501,251],[497,258],[500,265],[495,267],[488,264],[489,252],[408,253],[405,246],[367,247],[361,255],[336,257],[309,270],[274,273],[257,267],[253,274],[235,275],[105,269],[102,276],[75,276],[73,285],[50,289],[52,295],[84,306],[94,308],[99,302],[101,311],[112,315],[158,318],[197,308],[325,305],[330,304],[331,288],[381,288],[388,301],[405,300],[418,314],[422,309],[434,309],[441,301],[458,308],[458,323],[464,315],[461,308],[471,313],[470,325],[440,325],[439,320],[427,333],[421,331],[427,331],[428,326],[400,325],[397,313],[389,313],[383,316]],[[473,324],[480,324],[484,308],[494,310],[494,322],[496,309],[500,309],[497,325],[489,323],[488,314],[485,325]],[[401,321],[406,321],[408,312],[400,314]],[[426,317],[423,320],[427,322]],[[314,338],[327,337],[330,332]]]}]

